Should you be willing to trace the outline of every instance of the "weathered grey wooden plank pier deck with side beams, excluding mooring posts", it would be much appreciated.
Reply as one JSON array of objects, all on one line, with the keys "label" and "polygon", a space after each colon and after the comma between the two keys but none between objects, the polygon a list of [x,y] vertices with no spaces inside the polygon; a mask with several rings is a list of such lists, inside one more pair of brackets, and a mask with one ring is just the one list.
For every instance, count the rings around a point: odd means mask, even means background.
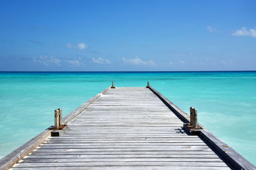
[{"label": "weathered grey wooden plank pier deck with side beams, excluding mooring posts", "polygon": [[0,168],[256,169],[202,125],[198,135],[184,131],[189,121],[149,84],[112,85],[63,118],[63,130],[46,129]]}]

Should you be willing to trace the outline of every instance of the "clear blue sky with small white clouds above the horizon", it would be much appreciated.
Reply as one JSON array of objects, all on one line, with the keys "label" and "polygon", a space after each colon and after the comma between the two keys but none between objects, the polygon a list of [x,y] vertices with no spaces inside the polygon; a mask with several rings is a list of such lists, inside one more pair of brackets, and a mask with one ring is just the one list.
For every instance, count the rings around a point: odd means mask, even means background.
[{"label": "clear blue sky with small white clouds above the horizon", "polygon": [[256,1],[0,1],[0,71],[256,70]]}]

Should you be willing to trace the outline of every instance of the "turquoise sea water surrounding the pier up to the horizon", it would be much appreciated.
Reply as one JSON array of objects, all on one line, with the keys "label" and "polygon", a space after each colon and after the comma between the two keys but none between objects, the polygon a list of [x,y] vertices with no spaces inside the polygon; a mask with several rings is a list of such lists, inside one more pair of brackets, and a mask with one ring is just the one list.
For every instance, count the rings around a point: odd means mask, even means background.
[{"label": "turquoise sea water surrounding the pier up to the horizon", "polygon": [[0,157],[67,115],[115,81],[156,90],[256,164],[256,72],[0,73]]}]

